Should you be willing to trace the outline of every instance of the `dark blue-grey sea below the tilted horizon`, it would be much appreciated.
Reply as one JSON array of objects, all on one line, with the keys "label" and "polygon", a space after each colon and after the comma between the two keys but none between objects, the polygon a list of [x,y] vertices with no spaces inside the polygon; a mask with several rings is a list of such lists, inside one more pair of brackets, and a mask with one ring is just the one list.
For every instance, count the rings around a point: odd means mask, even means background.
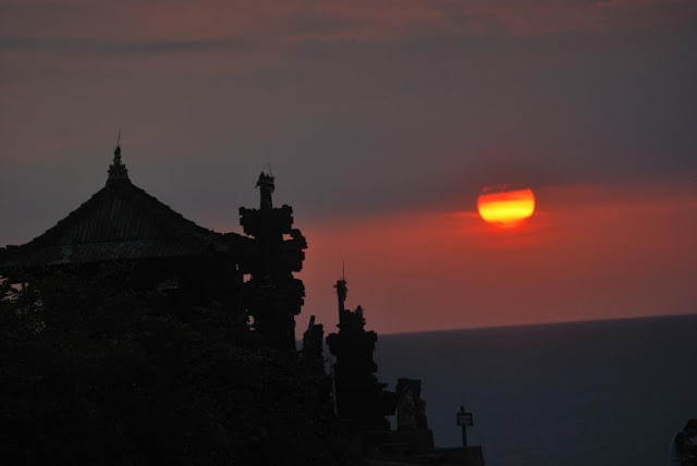
[{"label": "dark blue-grey sea below the tilted horizon", "polygon": [[379,380],[421,379],[437,446],[487,466],[656,466],[697,417],[697,316],[379,335]]}]

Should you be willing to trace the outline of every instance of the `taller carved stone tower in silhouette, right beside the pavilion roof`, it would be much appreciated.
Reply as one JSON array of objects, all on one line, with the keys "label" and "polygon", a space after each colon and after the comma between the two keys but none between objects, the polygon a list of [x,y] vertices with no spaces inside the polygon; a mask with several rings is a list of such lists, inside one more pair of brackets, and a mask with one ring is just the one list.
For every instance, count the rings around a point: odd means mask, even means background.
[{"label": "taller carved stone tower in silhouette, right beside the pavilion roof", "polygon": [[293,272],[303,268],[307,241],[292,228],[293,209],[273,207],[273,176],[261,172],[257,187],[259,208],[240,208],[244,233],[253,236],[240,261],[241,272],[252,274],[244,284],[244,302],[255,331],[268,346],[295,351],[295,316],[304,304],[305,286]]}]

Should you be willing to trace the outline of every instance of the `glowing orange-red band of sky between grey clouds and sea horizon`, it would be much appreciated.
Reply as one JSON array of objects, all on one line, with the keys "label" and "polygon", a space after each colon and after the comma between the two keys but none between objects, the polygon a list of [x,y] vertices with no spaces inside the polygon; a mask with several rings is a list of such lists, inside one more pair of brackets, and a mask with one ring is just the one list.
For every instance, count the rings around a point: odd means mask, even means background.
[{"label": "glowing orange-red band of sky between grey clouds and sea horizon", "polygon": [[298,221],[311,254],[299,274],[307,296],[297,328],[310,314],[335,324],[332,285],[344,259],[347,305],[364,306],[378,333],[697,311],[694,185],[557,184],[534,194],[533,218],[510,229],[482,221],[476,197],[462,211]]}]

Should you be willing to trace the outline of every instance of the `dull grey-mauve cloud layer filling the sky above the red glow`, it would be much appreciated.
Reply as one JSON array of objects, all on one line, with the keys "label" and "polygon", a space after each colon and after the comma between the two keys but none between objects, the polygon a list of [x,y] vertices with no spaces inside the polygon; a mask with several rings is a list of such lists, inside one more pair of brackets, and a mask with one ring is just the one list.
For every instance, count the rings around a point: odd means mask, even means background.
[{"label": "dull grey-mauve cloud layer filling the sky above the red glow", "polygon": [[217,228],[267,162],[307,218],[694,182],[690,2],[206,5],[5,2],[0,243],[95,192],[119,126],[132,179]]}]

